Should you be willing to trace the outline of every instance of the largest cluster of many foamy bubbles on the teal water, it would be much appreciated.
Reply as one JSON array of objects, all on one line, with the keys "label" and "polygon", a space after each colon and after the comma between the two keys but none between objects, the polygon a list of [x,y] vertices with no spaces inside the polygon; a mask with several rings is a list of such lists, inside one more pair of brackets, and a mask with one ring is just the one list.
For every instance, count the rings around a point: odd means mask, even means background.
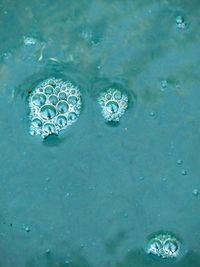
[{"label": "largest cluster of many foamy bubbles on the teal water", "polygon": [[30,134],[46,138],[76,122],[81,111],[77,87],[62,79],[50,78],[40,83],[29,97]]}]

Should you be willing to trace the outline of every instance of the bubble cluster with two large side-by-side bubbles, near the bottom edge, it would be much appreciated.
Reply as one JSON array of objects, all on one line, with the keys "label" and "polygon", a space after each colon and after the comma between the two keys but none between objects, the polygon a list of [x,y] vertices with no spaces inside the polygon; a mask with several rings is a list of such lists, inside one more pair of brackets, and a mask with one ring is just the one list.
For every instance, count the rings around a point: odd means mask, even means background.
[{"label": "bubble cluster with two large side-by-side bubbles, near the bottom edge", "polygon": [[147,253],[166,258],[175,258],[180,251],[180,242],[171,234],[158,234],[151,238],[147,245]]}]

